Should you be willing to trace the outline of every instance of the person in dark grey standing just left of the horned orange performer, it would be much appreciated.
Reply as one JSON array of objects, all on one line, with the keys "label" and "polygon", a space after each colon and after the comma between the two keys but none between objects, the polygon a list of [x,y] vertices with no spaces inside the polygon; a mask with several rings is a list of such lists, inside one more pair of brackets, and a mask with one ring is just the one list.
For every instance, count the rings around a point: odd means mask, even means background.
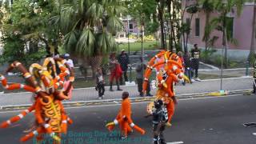
[{"label": "person in dark grey standing just left of the horned orange performer", "polygon": [[[146,64],[142,62],[142,57],[140,58],[140,62],[138,62],[138,64],[136,65],[136,80],[137,80],[137,84],[138,84],[138,92],[139,95],[141,97],[144,96],[143,94],[143,74],[144,71],[146,70]],[[149,82],[147,82],[147,90],[146,90],[146,96],[153,96],[152,94],[150,94],[150,80]]]}]

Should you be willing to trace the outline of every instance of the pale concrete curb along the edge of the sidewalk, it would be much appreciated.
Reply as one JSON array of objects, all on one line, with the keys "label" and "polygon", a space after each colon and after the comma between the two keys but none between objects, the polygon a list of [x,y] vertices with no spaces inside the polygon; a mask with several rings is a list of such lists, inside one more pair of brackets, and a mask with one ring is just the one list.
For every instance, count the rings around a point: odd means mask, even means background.
[{"label": "pale concrete curb along the edge of the sidewalk", "polygon": [[[239,93],[245,93],[253,89],[246,89],[246,90],[232,90],[228,91],[228,94],[239,94]],[[204,97],[204,96],[211,96],[214,92],[204,92],[204,93],[194,93],[194,94],[179,94],[177,95],[177,98],[182,98],[182,97]],[[143,97],[143,98],[130,98],[131,101],[148,101],[151,100],[154,97]],[[119,103],[122,101],[122,98],[115,98],[115,99],[104,99],[104,100],[90,100],[90,101],[76,101],[76,102],[62,102],[64,106],[69,106],[69,105],[95,105],[95,104],[100,104],[100,103],[107,103],[107,102],[114,102],[114,103]],[[6,106],[0,106],[0,110],[4,109],[15,109],[15,108],[26,108],[31,106],[31,104],[23,104],[23,105],[6,105]]]}]

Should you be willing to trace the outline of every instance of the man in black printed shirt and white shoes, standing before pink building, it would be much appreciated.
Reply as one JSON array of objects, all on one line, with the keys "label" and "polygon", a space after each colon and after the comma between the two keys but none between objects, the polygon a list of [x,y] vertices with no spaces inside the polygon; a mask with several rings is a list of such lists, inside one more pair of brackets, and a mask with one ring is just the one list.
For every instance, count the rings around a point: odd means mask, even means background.
[{"label": "man in black printed shirt and white shoes, standing before pink building", "polygon": [[192,77],[194,76],[194,79],[191,79],[191,82],[194,82],[194,80],[199,82],[201,81],[200,78],[198,78],[200,53],[201,51],[198,49],[198,44],[194,44],[194,49],[191,50],[191,55],[192,55],[191,65],[194,70],[194,74],[192,75]]}]

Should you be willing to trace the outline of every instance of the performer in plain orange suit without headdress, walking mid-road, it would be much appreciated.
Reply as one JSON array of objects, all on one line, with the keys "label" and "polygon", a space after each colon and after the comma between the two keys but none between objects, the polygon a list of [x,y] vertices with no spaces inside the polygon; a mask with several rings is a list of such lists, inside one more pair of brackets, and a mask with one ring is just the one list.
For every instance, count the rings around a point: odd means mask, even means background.
[{"label": "performer in plain orange suit without headdress, walking mid-road", "polygon": [[114,122],[106,124],[108,130],[114,130],[114,126],[119,125],[122,131],[122,139],[127,138],[128,133],[131,133],[134,130],[137,130],[140,134],[145,134],[145,130],[142,130],[139,126],[135,125],[131,119],[131,105],[129,100],[129,93],[122,93],[122,106],[118,113],[118,116],[114,119]]}]

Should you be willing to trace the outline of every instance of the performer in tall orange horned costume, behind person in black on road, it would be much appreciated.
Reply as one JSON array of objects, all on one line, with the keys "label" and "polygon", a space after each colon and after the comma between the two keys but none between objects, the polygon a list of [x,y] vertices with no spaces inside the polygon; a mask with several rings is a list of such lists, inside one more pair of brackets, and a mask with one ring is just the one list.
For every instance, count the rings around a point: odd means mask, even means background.
[{"label": "performer in tall orange horned costume, behind person in black on road", "polygon": [[[164,58],[164,61],[155,62],[157,58]],[[143,82],[143,91],[146,91],[146,85],[148,82],[148,78],[150,77],[151,71],[154,70],[155,67],[162,66],[163,68],[157,71],[157,82],[156,85],[158,87],[156,99],[161,99],[165,104],[168,110],[168,122],[167,126],[171,126],[170,121],[174,115],[175,104],[177,104],[177,100],[175,98],[174,93],[174,83],[179,81],[189,82],[189,79],[183,73],[182,61],[178,57],[177,54],[174,54],[170,51],[161,51],[154,58],[151,58],[148,63],[146,72],[144,74],[144,82]],[[158,69],[157,69],[158,70]],[[148,113],[152,110],[153,103],[148,105]]]}]

